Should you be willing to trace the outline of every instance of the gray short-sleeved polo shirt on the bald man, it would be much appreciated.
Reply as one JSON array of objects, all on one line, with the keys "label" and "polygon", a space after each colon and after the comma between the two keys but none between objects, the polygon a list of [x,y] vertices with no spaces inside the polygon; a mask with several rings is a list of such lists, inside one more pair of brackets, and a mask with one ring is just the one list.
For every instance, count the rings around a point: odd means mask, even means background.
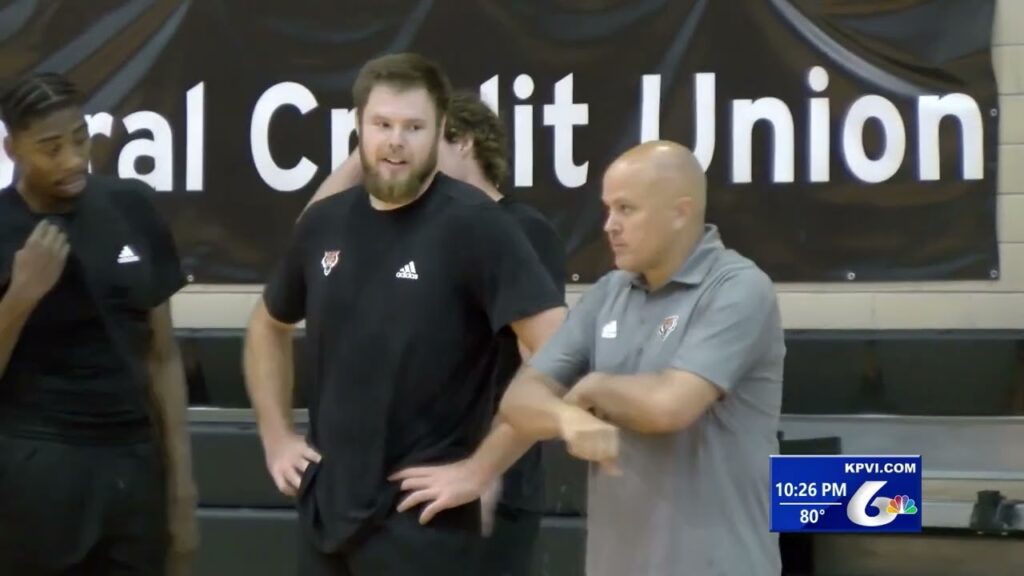
[{"label": "gray short-sleeved polo shirt on the bald man", "polygon": [[768,513],[784,356],[771,280],[713,225],[666,287],[615,271],[583,295],[534,368],[566,386],[590,371],[676,369],[724,393],[684,430],[623,430],[623,476],[592,466],[588,576],[781,572]]}]

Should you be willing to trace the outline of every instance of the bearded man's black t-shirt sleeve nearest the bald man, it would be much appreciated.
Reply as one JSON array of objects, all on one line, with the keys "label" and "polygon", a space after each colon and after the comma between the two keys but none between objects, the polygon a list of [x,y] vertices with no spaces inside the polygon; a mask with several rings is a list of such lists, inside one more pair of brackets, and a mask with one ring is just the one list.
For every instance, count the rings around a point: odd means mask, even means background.
[{"label": "bearded man's black t-shirt sleeve nearest the bald man", "polygon": [[467,225],[472,290],[496,333],[515,321],[564,305],[525,234],[497,205],[476,207]]}]

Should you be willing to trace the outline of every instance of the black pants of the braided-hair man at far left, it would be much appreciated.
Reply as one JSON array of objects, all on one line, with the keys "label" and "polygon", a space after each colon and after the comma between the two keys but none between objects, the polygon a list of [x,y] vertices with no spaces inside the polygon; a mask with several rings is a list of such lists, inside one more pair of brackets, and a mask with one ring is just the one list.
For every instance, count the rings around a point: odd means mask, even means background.
[{"label": "black pants of the braided-hair man at far left", "polygon": [[0,436],[0,574],[164,574],[164,486],[154,445]]}]

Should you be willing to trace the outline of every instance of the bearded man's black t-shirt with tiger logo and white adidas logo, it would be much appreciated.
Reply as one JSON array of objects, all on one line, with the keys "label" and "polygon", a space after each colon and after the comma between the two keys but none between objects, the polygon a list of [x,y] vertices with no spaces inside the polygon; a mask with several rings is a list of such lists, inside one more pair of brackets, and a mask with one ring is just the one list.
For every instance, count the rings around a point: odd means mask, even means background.
[{"label": "bearded man's black t-shirt with tiger logo and white adidas logo", "polygon": [[497,334],[563,300],[516,223],[443,173],[395,210],[361,187],[315,203],[264,299],[279,321],[306,321],[324,458],[299,509],[324,550],[394,509],[389,475],[472,454],[494,416]]}]

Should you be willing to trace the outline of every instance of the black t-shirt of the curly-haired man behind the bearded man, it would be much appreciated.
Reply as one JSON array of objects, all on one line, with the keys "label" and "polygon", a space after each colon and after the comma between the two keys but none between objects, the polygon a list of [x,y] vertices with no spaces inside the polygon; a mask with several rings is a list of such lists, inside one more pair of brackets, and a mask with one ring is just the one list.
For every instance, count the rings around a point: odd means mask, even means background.
[{"label": "black t-shirt of the curly-haired man behind the bearded man", "polygon": [[[565,244],[555,228],[538,210],[514,198],[505,197],[498,203],[512,216],[519,229],[541,258],[548,276],[565,297]],[[498,366],[495,384],[498,400],[508,389],[509,383],[522,365],[518,338],[511,329],[499,333]],[[498,406],[495,407],[497,410]],[[537,444],[505,474],[502,479],[500,503],[509,508],[544,511],[544,466],[541,445]]]}]

